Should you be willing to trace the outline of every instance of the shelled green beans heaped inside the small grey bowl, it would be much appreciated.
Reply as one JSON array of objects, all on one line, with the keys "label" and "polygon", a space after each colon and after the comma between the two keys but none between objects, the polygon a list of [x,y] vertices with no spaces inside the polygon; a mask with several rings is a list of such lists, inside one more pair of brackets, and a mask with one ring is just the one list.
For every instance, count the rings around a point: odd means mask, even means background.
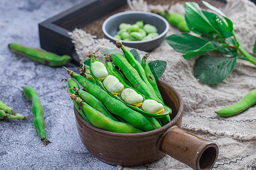
[{"label": "shelled green beans heaped inside the small grey bowl", "polygon": [[143,20],[135,24],[121,23],[119,24],[116,39],[125,41],[150,40],[159,35],[158,29],[151,24],[144,24]]}]

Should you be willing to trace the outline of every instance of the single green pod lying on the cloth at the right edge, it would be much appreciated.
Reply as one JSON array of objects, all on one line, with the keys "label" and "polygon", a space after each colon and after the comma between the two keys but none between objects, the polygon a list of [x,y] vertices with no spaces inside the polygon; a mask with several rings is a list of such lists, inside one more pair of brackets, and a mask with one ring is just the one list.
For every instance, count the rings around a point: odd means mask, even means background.
[{"label": "single green pod lying on the cloth at the right edge", "polygon": [[215,113],[221,117],[229,117],[245,111],[254,104],[256,104],[256,89],[250,91],[237,103],[229,105],[219,111],[215,111]]}]

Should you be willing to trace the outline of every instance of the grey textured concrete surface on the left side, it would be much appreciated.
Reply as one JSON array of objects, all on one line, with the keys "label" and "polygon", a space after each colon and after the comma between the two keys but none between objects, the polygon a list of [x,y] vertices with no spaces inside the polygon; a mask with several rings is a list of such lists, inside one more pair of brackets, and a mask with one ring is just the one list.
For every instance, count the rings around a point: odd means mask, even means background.
[{"label": "grey textured concrete surface on the left side", "polygon": [[[69,78],[63,67],[53,68],[10,52],[17,42],[40,48],[38,23],[82,0],[0,1],[0,99],[28,120],[0,120],[0,169],[117,169],[92,156],[77,133],[72,101],[60,87]],[[78,71],[69,64],[68,69]],[[78,73],[78,72],[77,72]],[[21,86],[38,92],[44,108],[44,147],[33,125],[31,101]]]}]

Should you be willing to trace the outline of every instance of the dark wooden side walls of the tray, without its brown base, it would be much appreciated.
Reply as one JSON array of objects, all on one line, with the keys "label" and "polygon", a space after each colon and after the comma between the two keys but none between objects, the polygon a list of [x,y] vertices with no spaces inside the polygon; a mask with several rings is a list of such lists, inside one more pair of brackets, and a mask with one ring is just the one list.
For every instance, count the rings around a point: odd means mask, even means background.
[{"label": "dark wooden side walls of the tray, without its brown base", "polygon": [[[39,23],[40,46],[49,52],[67,54],[77,63],[75,48],[68,32],[75,28],[84,28],[102,16],[110,16],[113,12],[127,5],[126,0],[86,0],[60,14]],[[94,31],[101,31],[95,28]],[[86,31],[87,32],[87,31]],[[89,32],[90,33],[90,32]],[[92,33],[92,35],[94,35]]]}]

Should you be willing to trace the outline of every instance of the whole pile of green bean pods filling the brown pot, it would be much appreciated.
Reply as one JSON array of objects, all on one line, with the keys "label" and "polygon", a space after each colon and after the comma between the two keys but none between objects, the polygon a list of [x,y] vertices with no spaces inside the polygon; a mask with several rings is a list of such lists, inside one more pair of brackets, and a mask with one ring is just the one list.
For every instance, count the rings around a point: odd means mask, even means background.
[{"label": "whole pile of green bean pods filling the brown pot", "polygon": [[75,108],[89,124],[117,133],[141,133],[168,124],[172,110],[164,105],[147,64],[149,54],[139,63],[119,40],[117,47],[123,55],[106,54],[103,63],[89,52],[90,65],[82,63],[80,74],[67,69],[67,92]]}]

